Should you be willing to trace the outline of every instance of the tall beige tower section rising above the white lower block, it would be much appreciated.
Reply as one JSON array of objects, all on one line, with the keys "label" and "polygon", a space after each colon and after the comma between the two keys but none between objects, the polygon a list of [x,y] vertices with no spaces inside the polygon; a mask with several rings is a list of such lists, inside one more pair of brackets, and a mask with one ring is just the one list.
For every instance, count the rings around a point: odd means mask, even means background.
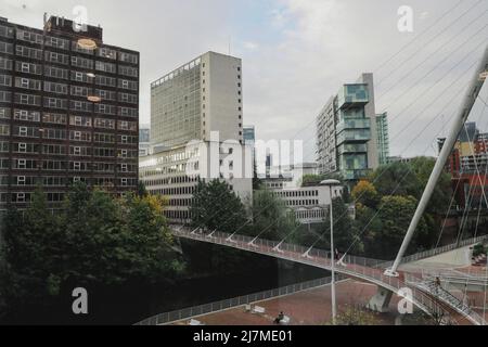
[{"label": "tall beige tower section rising above the white lower block", "polygon": [[242,62],[207,52],[151,83],[151,143],[243,141]]}]

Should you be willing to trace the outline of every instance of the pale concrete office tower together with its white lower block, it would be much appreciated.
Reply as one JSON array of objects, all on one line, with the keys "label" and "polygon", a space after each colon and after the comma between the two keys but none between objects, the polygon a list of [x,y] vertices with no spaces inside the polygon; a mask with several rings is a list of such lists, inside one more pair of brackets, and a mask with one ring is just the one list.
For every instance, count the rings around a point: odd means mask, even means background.
[{"label": "pale concrete office tower together with its white lower block", "polygon": [[[171,222],[190,221],[198,178],[223,179],[244,203],[252,201],[240,59],[207,52],[151,83],[151,151],[140,159],[140,178],[150,193],[168,197]],[[192,175],[189,160],[196,165]]]}]

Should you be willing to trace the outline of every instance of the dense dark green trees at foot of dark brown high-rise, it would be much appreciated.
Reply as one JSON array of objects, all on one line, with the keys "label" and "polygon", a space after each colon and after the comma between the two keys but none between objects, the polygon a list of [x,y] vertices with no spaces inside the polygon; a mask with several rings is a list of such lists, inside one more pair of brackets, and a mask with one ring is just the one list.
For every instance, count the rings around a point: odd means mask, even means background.
[{"label": "dense dark green trees at foot of dark brown high-rise", "polygon": [[2,226],[9,306],[49,299],[66,283],[149,283],[176,275],[183,265],[171,249],[162,208],[156,197],[114,198],[76,183],[52,215],[37,190],[24,215],[10,209]]}]

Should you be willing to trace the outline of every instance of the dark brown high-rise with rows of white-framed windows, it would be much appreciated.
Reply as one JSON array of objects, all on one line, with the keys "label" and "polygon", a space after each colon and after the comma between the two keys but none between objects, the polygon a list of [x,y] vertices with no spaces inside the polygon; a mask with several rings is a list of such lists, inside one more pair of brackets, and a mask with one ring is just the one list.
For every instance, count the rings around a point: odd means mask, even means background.
[{"label": "dark brown high-rise with rows of white-framed windows", "polygon": [[3,210],[37,185],[54,208],[75,181],[115,194],[138,183],[139,53],[105,44],[101,27],[44,23],[0,20]]}]

